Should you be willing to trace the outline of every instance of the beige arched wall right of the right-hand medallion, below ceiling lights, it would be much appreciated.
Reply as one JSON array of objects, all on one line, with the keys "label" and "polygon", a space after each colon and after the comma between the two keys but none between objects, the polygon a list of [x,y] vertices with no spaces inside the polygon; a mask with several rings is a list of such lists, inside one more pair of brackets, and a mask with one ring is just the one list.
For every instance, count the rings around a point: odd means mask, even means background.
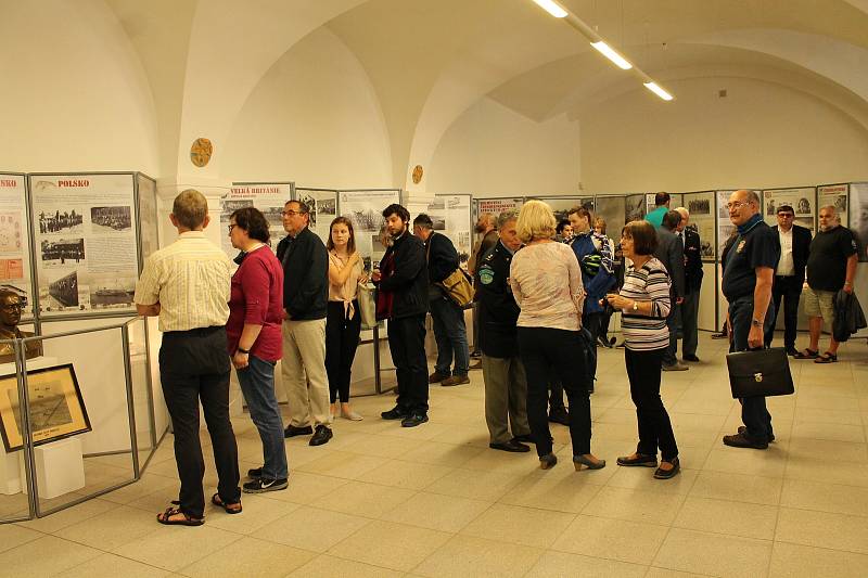
[{"label": "beige arched wall right of the right-hand medallion, below ceiling lights", "polygon": [[559,116],[536,123],[483,98],[441,140],[425,189],[474,196],[575,193],[578,123]]}]

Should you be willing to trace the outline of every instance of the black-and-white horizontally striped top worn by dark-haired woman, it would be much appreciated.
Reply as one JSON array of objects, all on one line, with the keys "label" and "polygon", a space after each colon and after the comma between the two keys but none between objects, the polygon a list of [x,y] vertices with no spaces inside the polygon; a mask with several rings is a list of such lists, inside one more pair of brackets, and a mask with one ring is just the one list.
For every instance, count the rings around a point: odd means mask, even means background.
[{"label": "black-and-white horizontally striped top worn by dark-haired woman", "polygon": [[624,273],[621,296],[636,301],[651,301],[651,314],[638,314],[633,309],[624,309],[621,329],[624,343],[633,351],[662,349],[669,345],[669,330],[666,317],[669,314],[669,286],[672,280],[666,268],[656,258],[636,269],[633,264]]}]

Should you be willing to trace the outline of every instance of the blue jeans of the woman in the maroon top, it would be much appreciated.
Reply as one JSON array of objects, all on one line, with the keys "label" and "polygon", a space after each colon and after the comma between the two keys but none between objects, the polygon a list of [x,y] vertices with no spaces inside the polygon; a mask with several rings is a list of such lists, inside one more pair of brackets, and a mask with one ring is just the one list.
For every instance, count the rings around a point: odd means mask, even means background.
[{"label": "blue jeans of the woman in the maroon top", "polygon": [[283,419],[275,395],[275,363],[250,356],[250,364],[237,373],[251,420],[263,440],[263,477],[284,479],[289,477],[289,466],[283,444]]}]

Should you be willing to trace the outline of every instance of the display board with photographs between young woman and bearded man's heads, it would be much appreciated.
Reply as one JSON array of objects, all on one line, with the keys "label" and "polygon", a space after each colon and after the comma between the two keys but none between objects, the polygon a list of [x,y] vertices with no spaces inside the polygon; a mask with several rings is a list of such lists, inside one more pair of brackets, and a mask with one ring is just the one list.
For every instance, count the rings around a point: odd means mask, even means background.
[{"label": "display board with photographs between young woman and bearded man's heads", "polygon": [[400,203],[399,189],[337,193],[337,210],[353,221],[356,249],[361,254],[366,271],[379,267],[380,259],[386,252],[381,236],[385,226],[383,209],[393,203]]}]

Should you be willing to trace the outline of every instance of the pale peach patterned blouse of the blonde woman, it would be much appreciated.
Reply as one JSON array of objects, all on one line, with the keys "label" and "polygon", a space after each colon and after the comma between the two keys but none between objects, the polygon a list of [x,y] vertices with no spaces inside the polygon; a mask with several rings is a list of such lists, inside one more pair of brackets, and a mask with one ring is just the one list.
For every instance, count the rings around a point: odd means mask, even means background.
[{"label": "pale peach patterned blouse of the blonde woman", "polygon": [[520,327],[582,329],[585,287],[573,249],[563,243],[539,243],[512,257],[509,283],[522,311]]}]

